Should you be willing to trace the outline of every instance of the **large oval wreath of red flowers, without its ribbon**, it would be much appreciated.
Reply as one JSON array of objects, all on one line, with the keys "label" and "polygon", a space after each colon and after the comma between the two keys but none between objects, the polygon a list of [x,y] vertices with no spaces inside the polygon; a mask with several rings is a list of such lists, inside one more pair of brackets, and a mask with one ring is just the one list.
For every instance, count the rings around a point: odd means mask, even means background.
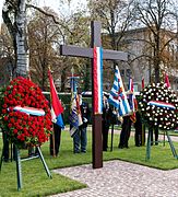
[{"label": "large oval wreath of red flowers, without its ribbon", "polygon": [[[44,116],[34,116],[14,111],[15,106],[43,109]],[[19,77],[10,82],[2,101],[2,127],[11,142],[19,148],[40,146],[51,132],[51,116],[48,101],[32,81]]]}]

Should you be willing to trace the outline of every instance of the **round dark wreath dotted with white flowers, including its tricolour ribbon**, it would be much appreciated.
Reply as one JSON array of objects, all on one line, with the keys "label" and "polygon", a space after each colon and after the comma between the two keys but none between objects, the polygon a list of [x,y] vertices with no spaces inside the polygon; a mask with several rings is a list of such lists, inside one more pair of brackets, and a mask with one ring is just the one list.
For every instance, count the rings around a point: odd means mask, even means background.
[{"label": "round dark wreath dotted with white flowers, including its tricolour ribbon", "polygon": [[178,125],[178,100],[165,83],[152,83],[141,91],[139,108],[147,126],[170,130]]}]

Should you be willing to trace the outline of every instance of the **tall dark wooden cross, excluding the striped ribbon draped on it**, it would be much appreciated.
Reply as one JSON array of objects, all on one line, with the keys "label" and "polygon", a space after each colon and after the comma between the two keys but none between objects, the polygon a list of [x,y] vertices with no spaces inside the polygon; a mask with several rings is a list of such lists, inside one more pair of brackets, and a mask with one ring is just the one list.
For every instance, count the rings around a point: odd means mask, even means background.
[{"label": "tall dark wooden cross, excluding the striped ribbon draped on it", "polygon": [[[93,60],[93,48],[102,47],[102,38],[100,38],[100,22],[92,21],[92,44],[91,48],[82,48],[78,46],[60,46],[60,55],[63,56],[72,56],[72,57],[85,57],[91,58]],[[108,60],[128,60],[128,54],[117,50],[103,50],[103,59]],[[93,61],[92,61],[93,63]],[[94,95],[94,77],[92,65],[92,95]],[[93,100],[93,108],[94,108],[94,97]],[[103,142],[102,142],[102,114],[94,114],[93,111],[93,125],[92,125],[92,158],[93,158],[93,169],[103,167]]]}]

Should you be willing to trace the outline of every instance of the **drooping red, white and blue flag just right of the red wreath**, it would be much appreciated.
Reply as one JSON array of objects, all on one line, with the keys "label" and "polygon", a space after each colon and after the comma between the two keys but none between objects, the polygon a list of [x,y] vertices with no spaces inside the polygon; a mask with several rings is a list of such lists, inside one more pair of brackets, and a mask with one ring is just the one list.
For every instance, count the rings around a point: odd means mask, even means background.
[{"label": "drooping red, white and blue flag just right of the red wreath", "polygon": [[63,119],[61,115],[63,113],[63,107],[58,97],[57,90],[56,90],[50,71],[48,71],[48,77],[49,77],[49,83],[50,83],[51,119],[52,119],[52,123],[57,124],[61,128],[64,128]]}]

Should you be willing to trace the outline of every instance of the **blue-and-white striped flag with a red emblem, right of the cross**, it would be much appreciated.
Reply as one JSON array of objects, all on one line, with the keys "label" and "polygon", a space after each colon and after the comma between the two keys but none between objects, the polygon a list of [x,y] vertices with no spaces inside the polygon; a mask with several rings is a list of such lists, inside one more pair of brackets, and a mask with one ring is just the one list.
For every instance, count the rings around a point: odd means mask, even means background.
[{"label": "blue-and-white striped flag with a red emblem, right of the cross", "polygon": [[118,116],[131,113],[118,67],[116,67],[114,85],[109,93],[108,103],[118,109]]}]

